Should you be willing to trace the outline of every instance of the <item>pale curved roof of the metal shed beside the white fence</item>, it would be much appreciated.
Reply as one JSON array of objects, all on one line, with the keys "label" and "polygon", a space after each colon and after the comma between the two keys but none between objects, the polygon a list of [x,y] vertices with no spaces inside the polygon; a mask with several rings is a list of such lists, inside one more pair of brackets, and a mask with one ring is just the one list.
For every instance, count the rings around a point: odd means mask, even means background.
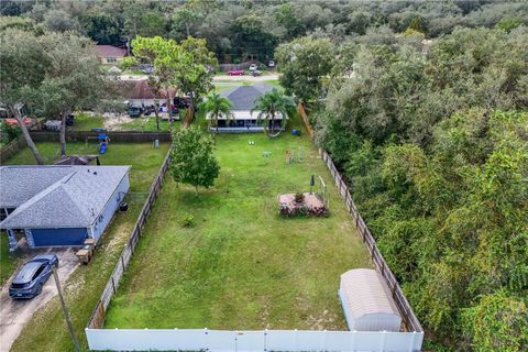
[{"label": "pale curved roof of the metal shed beside the white fence", "polygon": [[388,314],[399,317],[387,286],[376,271],[355,268],[341,275],[341,288],[346,296],[350,314],[360,318],[372,314]]}]

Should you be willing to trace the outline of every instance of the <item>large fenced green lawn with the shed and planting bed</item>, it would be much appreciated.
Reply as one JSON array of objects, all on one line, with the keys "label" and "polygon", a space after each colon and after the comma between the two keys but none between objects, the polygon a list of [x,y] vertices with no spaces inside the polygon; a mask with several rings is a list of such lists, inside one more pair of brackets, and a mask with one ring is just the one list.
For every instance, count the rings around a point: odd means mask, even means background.
[{"label": "large fenced green lawn with the shed and planting bed", "polygon": [[[217,142],[216,187],[195,197],[167,178],[106,327],[345,329],[340,274],[372,264],[309,139]],[[287,165],[285,151],[298,146],[304,161]],[[331,216],[280,218],[277,194],[309,190],[311,174],[327,182]],[[193,228],[183,226],[187,213]]]}]

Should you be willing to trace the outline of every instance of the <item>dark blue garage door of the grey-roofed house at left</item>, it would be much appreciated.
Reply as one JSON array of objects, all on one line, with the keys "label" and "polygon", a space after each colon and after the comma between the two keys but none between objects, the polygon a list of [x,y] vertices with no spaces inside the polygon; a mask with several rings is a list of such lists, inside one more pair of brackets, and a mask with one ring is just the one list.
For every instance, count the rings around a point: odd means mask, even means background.
[{"label": "dark blue garage door of the grey-roofed house at left", "polygon": [[31,229],[33,246],[35,248],[82,245],[87,234],[88,231],[85,228]]}]

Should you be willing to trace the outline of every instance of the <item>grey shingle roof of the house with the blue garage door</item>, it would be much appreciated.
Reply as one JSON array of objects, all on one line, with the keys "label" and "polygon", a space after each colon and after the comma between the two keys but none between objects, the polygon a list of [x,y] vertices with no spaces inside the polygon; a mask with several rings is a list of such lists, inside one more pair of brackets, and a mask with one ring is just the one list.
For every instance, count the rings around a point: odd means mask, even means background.
[{"label": "grey shingle roof of the house with the blue garage door", "polygon": [[129,169],[130,166],[0,167],[2,190],[14,186],[33,193],[24,193],[28,199],[0,223],[0,228],[87,228],[105,209]]}]

